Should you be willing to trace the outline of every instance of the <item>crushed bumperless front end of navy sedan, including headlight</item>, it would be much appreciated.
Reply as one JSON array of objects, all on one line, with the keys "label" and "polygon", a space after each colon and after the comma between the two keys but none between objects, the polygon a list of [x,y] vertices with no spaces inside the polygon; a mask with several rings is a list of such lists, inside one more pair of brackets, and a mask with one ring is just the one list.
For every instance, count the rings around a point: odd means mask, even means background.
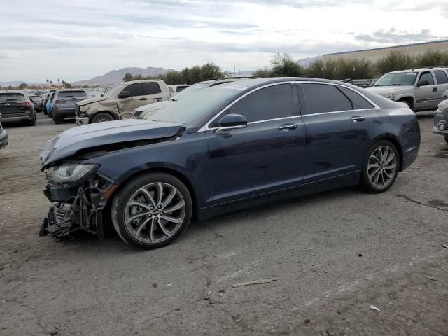
[{"label": "crushed bumperless front end of navy sedan, including headlight", "polygon": [[85,230],[99,239],[104,237],[103,211],[116,186],[97,173],[99,165],[64,162],[46,170],[45,196],[52,202],[40,235],[69,237]]}]

